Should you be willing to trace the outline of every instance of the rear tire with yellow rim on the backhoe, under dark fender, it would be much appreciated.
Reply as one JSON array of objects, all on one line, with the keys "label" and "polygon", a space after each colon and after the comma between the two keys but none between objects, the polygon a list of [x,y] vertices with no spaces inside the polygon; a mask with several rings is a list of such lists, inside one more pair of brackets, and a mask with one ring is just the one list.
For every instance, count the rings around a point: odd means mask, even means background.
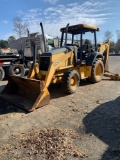
[{"label": "rear tire with yellow rim on the backhoe, under dark fender", "polygon": [[101,60],[96,60],[93,63],[91,77],[88,79],[92,83],[97,83],[102,80],[104,74],[104,65]]}]

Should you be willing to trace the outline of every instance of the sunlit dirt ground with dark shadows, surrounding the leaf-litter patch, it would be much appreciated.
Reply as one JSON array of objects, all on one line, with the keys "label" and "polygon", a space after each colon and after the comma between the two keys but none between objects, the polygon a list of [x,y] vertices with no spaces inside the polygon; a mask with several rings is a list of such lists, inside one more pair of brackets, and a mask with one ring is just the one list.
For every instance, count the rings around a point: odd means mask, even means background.
[{"label": "sunlit dirt ground with dark shadows, surrounding the leaf-litter patch", "polygon": [[[120,56],[110,56],[109,66],[111,72],[120,74]],[[6,83],[0,82],[0,91]],[[54,127],[71,129],[80,136],[75,143],[86,156],[68,155],[68,160],[120,160],[120,81],[106,77],[96,84],[82,81],[72,95],[64,94],[61,87],[52,86],[50,94],[49,105],[29,114],[7,102],[0,102],[1,160],[10,159],[8,148],[3,154],[2,146],[14,143],[11,136],[20,137],[32,129]],[[24,159],[22,154],[19,159]]]}]

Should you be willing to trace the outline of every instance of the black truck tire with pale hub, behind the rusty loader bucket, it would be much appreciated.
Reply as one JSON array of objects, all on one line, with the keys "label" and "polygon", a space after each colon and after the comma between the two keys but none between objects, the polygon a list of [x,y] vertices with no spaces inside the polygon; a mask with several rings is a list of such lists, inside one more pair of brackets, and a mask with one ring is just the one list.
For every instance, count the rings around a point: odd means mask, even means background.
[{"label": "black truck tire with pale hub, behind the rusty loader bucket", "polygon": [[14,64],[9,68],[10,76],[23,77],[25,75],[25,69],[23,65]]}]

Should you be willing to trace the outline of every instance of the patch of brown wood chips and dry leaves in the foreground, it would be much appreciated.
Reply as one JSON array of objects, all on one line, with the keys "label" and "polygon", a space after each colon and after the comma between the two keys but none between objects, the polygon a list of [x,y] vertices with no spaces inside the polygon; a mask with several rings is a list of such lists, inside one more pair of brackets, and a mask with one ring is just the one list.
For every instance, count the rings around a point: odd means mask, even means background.
[{"label": "patch of brown wood chips and dry leaves in the foreground", "polygon": [[[31,130],[20,137],[12,137],[15,142],[17,159],[20,153],[26,159],[66,160],[67,156],[85,157],[75,140],[80,136],[70,129],[50,128]],[[13,149],[13,147],[12,147]],[[21,152],[20,152],[21,151]],[[19,156],[18,156],[19,155]]]}]

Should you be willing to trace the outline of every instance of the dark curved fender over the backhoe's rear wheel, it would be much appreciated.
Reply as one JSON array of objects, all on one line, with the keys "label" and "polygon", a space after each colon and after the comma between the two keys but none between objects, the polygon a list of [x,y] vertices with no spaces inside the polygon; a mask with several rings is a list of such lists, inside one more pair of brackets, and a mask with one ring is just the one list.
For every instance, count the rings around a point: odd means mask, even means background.
[{"label": "dark curved fender over the backhoe's rear wheel", "polygon": [[90,56],[88,57],[87,61],[86,61],[86,65],[87,66],[92,66],[94,61],[97,58],[102,58],[102,60],[103,60],[103,54],[101,52],[93,52],[93,53],[91,53]]}]

